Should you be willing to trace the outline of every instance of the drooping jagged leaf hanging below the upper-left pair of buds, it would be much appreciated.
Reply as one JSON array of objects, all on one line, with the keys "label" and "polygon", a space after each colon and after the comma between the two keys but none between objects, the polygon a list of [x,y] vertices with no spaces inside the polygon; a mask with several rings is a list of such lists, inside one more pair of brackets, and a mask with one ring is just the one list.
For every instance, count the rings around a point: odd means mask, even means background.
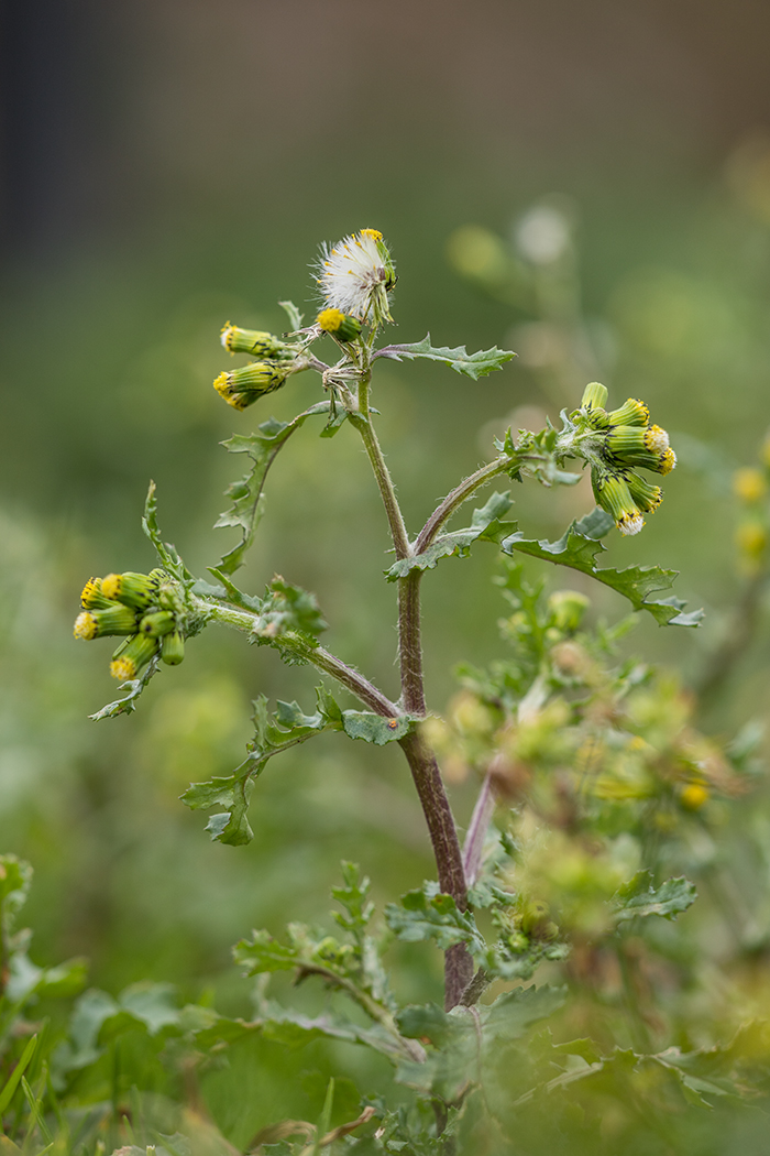
[{"label": "drooping jagged leaf hanging below the upper-left pair of buds", "polygon": [[[286,306],[291,303],[284,302],[283,304]],[[328,414],[330,405],[329,401],[319,401],[309,409],[298,414],[291,422],[278,422],[275,417],[270,417],[257,427],[256,433],[236,433],[227,442],[222,443],[230,453],[246,453],[252,459],[249,472],[240,481],[233,482],[225,491],[226,496],[233,499],[232,506],[222,513],[215,523],[215,528],[236,526],[241,532],[240,542],[232,550],[229,550],[219,563],[218,569],[223,573],[232,575],[242,565],[244,555],[254,541],[254,534],[262,517],[264,481],[277,454],[291,435],[304,425],[308,417],[313,414]]]}]

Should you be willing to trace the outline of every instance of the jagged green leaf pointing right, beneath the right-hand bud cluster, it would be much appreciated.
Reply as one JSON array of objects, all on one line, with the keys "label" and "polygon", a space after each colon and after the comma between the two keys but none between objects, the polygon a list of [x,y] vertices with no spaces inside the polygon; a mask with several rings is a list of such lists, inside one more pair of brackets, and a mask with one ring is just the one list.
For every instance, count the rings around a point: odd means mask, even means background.
[{"label": "jagged green leaf pointing right, beneath the right-hand bud cluster", "polygon": [[[589,514],[583,521],[574,521],[556,542],[526,539],[521,531],[504,539],[500,544],[503,554],[521,550],[534,558],[571,566],[582,573],[591,575],[597,581],[604,583],[629,600],[635,610],[649,610],[656,622],[672,627],[696,627],[703,617],[703,610],[683,614],[686,606],[680,599],[649,595],[656,591],[670,590],[676,570],[663,570],[660,566],[627,566],[625,570],[610,568],[599,569],[596,558],[604,553],[605,547],[596,536],[601,531],[601,519]],[[591,535],[591,536],[590,536]]]}]

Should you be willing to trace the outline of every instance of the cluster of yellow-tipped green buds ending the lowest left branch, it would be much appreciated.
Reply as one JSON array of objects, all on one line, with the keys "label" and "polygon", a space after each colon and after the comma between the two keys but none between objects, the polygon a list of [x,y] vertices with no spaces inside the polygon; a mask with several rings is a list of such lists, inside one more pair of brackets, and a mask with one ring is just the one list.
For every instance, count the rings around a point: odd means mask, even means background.
[{"label": "cluster of yellow-tipped green buds ending the lowest left branch", "polygon": [[113,679],[136,679],[156,654],[169,666],[185,657],[184,606],[165,570],[89,578],[81,607],[75,638],[124,636],[110,664]]}]

